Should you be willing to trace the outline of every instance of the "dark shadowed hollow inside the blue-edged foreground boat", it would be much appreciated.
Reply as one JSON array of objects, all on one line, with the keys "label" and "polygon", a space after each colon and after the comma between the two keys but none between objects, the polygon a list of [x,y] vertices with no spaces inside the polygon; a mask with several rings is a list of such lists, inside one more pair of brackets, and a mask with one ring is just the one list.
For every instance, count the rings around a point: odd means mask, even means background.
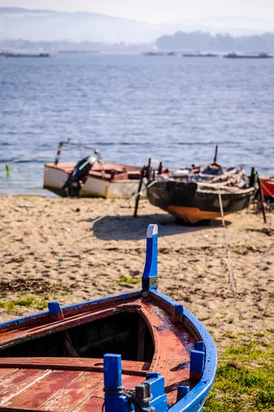
[{"label": "dark shadowed hollow inside the blue-edged foreground boat", "polygon": [[136,312],[121,312],[21,341],[0,349],[0,357],[103,358],[119,353],[125,361],[151,363],[154,345],[147,323]]}]

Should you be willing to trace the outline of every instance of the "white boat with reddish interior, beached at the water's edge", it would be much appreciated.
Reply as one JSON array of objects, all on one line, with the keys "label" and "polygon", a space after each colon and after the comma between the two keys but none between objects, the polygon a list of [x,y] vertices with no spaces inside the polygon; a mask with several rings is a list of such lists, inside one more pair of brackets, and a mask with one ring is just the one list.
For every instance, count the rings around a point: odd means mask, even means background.
[{"label": "white boat with reddish interior, beached at the water's edge", "polygon": [[[60,152],[64,144],[86,148],[79,144],[61,142],[55,162],[45,164],[43,187],[62,197],[70,195],[70,191],[64,186],[77,166],[77,162],[59,162]],[[98,155],[99,151],[95,150],[95,154]],[[76,183],[79,188],[77,196],[129,198],[138,192],[141,168],[120,163],[102,162],[100,157],[92,160],[90,170],[87,170],[86,174],[81,176],[77,183],[73,182],[73,185]]]}]

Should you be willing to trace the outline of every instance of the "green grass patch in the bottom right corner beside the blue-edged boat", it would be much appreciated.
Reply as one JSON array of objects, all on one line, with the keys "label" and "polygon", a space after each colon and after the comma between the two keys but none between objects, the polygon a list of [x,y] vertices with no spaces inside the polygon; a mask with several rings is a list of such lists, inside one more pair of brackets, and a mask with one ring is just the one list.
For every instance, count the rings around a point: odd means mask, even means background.
[{"label": "green grass patch in the bottom right corner beside the blue-edged boat", "polygon": [[269,330],[226,347],[203,412],[274,412],[273,338]]}]

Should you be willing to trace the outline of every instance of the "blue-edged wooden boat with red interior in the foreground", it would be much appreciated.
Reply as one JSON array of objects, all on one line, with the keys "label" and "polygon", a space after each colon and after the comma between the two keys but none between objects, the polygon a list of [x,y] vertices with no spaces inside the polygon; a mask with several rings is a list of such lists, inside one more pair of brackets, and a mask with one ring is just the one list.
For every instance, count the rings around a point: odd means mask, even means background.
[{"label": "blue-edged wooden boat with red interior in the foreground", "polygon": [[202,411],[216,348],[158,291],[157,237],[150,225],[142,290],[0,325],[0,411]]}]

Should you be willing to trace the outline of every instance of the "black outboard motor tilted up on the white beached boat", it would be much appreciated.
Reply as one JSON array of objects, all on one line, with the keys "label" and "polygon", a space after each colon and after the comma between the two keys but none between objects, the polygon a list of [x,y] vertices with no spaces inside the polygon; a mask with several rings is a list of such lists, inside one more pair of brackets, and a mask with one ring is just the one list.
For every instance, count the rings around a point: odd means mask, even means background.
[{"label": "black outboard motor tilted up on the white beached boat", "polygon": [[64,183],[62,190],[67,188],[69,196],[79,197],[81,187],[88,177],[88,172],[96,161],[97,159],[93,156],[85,157],[85,159],[80,160],[66,180],[66,183]]}]

